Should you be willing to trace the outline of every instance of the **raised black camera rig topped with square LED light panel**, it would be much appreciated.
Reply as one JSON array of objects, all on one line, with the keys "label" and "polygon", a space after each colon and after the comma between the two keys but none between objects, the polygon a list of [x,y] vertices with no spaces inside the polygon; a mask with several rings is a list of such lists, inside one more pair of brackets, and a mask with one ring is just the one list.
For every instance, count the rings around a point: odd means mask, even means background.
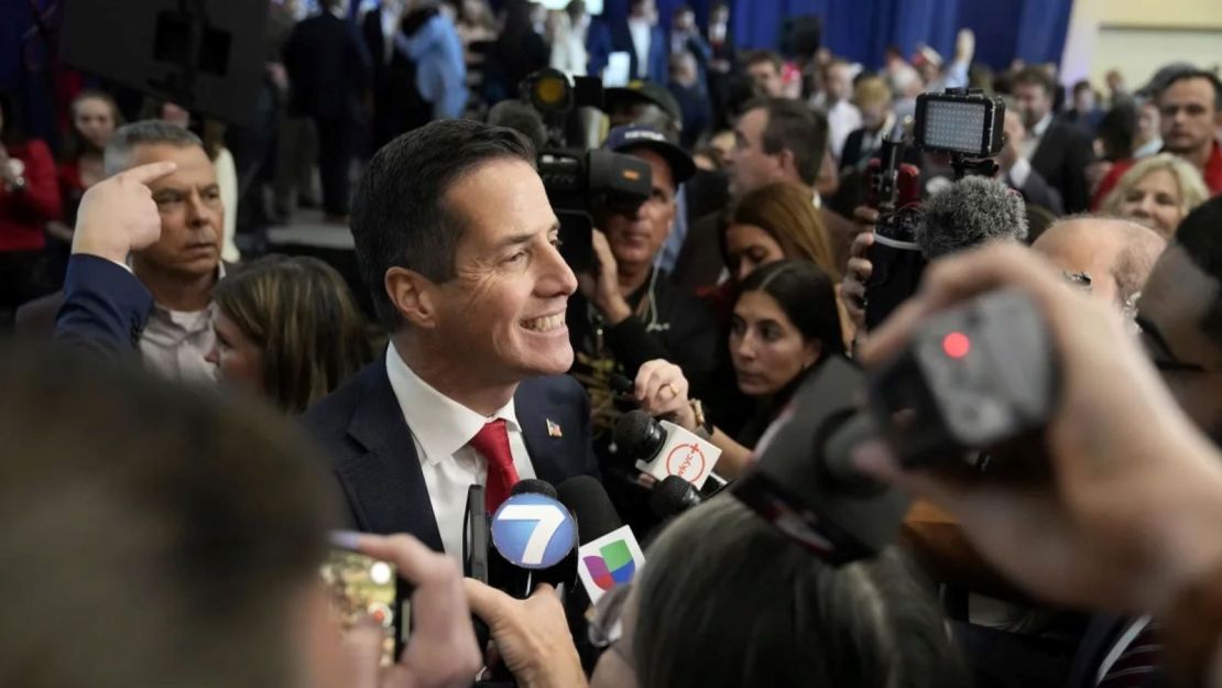
[{"label": "raised black camera rig topped with square LED light panel", "polygon": [[[951,156],[954,177],[968,172],[997,174],[992,156],[1001,153],[1006,104],[979,89],[948,88],[916,97],[913,145]],[[916,246],[921,226],[920,170],[904,163],[904,126],[882,142],[879,156],[866,167],[866,205],[879,211],[869,258],[874,266],[866,281],[865,326],[873,330],[916,291],[925,258]]]}]

